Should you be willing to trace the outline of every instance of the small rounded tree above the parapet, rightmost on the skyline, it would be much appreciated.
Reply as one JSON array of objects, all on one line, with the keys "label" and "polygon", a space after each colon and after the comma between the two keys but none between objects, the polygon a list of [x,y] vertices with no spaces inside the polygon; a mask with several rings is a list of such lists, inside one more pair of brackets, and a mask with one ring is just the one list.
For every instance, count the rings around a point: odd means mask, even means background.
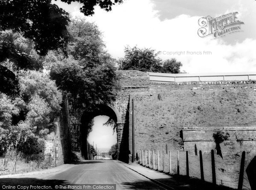
[{"label": "small rounded tree above the parapet, rightmost on the skyline", "polygon": [[177,62],[175,58],[171,60],[165,60],[163,66],[160,69],[162,73],[180,73],[180,67],[182,66],[181,62]]}]

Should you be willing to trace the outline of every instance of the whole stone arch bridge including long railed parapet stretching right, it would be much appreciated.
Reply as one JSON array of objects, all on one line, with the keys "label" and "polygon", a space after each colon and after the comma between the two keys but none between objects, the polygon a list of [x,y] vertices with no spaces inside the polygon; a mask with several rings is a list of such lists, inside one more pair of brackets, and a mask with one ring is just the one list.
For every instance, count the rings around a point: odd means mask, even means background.
[{"label": "whole stone arch bridge including long railed parapet stretching right", "polygon": [[[119,87],[116,88],[116,101],[111,105],[99,105],[90,113],[74,110],[69,106],[71,150],[81,152],[85,159],[88,155],[88,125],[99,115],[109,116],[116,122],[119,160],[128,162],[128,155],[133,152],[132,99],[142,100],[160,91],[175,89],[244,88],[255,90],[256,73],[222,73],[222,74],[160,74],[140,71],[117,71],[120,75]],[[209,82],[211,81],[211,82]],[[233,81],[233,82],[230,82]],[[237,82],[234,82],[237,81]],[[243,81],[243,82],[242,82]],[[171,85],[163,85],[169,83]],[[162,84],[162,85],[160,85]],[[255,89],[254,89],[255,88]]]}]

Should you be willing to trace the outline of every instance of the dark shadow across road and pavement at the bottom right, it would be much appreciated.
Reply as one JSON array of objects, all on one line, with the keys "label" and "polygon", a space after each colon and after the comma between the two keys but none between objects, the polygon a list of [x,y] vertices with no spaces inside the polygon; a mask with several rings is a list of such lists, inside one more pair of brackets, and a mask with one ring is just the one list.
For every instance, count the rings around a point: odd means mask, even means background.
[{"label": "dark shadow across road and pavement at the bottom right", "polygon": [[[170,176],[170,178],[155,179],[162,184],[167,185],[163,186],[165,189],[170,190],[234,190],[229,187],[213,185],[212,183],[201,181],[199,179],[187,179],[184,176]],[[126,189],[161,189],[160,187],[152,187],[152,183],[147,180],[137,180],[133,182],[124,182],[122,185]]]}]

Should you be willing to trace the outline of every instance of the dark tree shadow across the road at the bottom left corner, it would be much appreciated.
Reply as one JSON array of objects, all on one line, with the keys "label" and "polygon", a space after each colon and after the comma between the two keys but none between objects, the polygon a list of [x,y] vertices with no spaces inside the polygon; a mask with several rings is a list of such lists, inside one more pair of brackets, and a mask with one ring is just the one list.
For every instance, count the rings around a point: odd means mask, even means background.
[{"label": "dark tree shadow across the road at the bottom left corner", "polygon": [[[0,187],[5,186],[16,186],[17,185],[26,185],[26,186],[36,186],[36,185],[46,185],[55,187],[55,185],[71,185],[68,181],[65,180],[56,180],[56,179],[36,179],[36,178],[1,178],[0,179]],[[7,188],[8,189],[8,188]],[[32,188],[30,188],[32,189]],[[55,188],[52,188],[55,189]]]}]

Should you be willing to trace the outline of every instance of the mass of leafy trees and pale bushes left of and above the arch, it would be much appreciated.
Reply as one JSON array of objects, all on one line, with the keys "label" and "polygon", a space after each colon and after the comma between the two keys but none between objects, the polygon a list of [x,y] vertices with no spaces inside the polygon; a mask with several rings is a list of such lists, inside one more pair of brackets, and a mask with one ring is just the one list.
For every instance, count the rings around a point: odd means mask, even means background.
[{"label": "mass of leafy trees and pale bushes left of and above the arch", "polygon": [[11,30],[0,32],[0,45],[7,40],[29,60],[5,57],[0,62],[0,155],[9,149],[44,152],[62,97],[87,111],[114,100],[116,69],[101,32],[79,19],[72,20],[68,30],[66,52],[52,50],[44,56],[35,51],[32,40]]}]

